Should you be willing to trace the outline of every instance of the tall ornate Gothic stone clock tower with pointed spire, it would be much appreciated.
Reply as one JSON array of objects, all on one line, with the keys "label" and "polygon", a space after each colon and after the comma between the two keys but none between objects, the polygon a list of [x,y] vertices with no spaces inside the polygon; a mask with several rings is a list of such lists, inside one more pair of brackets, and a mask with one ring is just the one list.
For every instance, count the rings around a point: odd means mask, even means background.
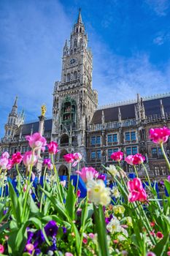
[{"label": "tall ornate Gothic stone clock tower with pointed spire", "polygon": [[59,174],[66,173],[63,155],[80,152],[86,160],[86,129],[98,105],[98,94],[92,89],[92,53],[81,12],[63,47],[61,82],[53,92],[52,140],[58,142]]}]

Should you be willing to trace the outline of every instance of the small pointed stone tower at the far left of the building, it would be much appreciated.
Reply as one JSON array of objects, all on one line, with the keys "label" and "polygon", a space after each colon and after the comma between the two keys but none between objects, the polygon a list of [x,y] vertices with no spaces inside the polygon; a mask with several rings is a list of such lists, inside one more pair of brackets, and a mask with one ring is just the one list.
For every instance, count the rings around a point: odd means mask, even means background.
[{"label": "small pointed stone tower at the far left of the building", "polygon": [[18,97],[15,98],[12,110],[9,113],[7,124],[5,124],[5,140],[10,140],[14,137],[18,129]]}]

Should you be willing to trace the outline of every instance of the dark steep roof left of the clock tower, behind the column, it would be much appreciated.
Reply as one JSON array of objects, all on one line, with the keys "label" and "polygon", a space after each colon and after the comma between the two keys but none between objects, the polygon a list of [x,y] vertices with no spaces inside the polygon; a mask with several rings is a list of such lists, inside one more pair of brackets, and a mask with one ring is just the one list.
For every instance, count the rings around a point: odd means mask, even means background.
[{"label": "dark steep roof left of the clock tower, behind the column", "polygon": [[[16,136],[20,135],[21,129],[22,129],[22,135],[30,135],[31,129],[33,129],[33,133],[38,132],[39,131],[39,121],[21,125],[16,133]],[[51,131],[51,129],[52,129],[52,119],[45,120],[45,132]]]}]

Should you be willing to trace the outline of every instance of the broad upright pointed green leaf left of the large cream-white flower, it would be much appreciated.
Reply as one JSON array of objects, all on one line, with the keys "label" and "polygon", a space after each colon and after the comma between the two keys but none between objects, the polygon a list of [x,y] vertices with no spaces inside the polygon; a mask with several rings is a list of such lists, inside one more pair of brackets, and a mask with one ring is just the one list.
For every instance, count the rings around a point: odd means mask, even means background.
[{"label": "broad upright pointed green leaf left of the large cream-white flower", "polygon": [[69,213],[69,217],[73,220],[75,215],[75,203],[76,195],[74,193],[74,186],[72,183],[69,183],[69,189],[66,197],[66,209]]}]

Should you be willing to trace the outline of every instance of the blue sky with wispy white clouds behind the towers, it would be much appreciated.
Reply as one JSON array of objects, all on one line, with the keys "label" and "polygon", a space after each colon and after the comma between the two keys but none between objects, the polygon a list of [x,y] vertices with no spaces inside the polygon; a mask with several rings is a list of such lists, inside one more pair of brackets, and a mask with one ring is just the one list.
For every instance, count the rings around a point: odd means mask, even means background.
[{"label": "blue sky with wispy white clouds behind the towers", "polygon": [[26,120],[52,114],[65,39],[82,8],[98,103],[170,91],[169,0],[1,0],[0,137],[18,95]]}]

